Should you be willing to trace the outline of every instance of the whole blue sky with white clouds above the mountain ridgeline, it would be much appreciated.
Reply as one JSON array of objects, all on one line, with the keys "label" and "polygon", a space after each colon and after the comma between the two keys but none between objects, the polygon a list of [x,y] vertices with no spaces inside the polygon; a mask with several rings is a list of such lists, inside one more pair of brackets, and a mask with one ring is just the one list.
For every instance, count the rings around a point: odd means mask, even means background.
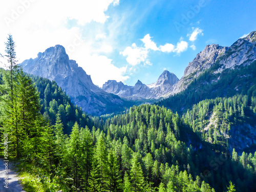
[{"label": "whole blue sky with white clouds above the mountain ridgeline", "polygon": [[99,87],[150,84],[164,70],[180,79],[207,45],[255,31],[255,8],[254,0],[1,0],[0,53],[12,34],[18,63],[62,45]]}]

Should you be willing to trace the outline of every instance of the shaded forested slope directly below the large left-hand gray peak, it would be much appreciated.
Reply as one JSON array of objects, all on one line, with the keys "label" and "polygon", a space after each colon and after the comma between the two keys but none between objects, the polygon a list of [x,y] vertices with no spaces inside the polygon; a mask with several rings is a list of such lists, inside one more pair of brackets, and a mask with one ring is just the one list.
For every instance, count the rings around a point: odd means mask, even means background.
[{"label": "shaded forested slope directly below the large left-hand gray peak", "polygon": [[65,134],[70,134],[75,122],[83,127],[86,125],[92,127],[89,116],[71,102],[70,98],[57,86],[55,81],[34,75],[30,75],[30,77],[40,93],[40,103],[42,104],[40,112],[51,124],[55,124],[57,116],[59,116]]}]

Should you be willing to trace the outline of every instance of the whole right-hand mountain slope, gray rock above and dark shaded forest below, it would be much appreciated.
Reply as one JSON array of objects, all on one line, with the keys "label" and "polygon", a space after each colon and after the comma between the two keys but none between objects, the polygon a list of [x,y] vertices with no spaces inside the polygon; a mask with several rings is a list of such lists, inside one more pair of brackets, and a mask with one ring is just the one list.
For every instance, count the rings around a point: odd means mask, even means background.
[{"label": "whole right-hand mountain slope, gray rock above and dark shaded forest below", "polygon": [[216,53],[218,46],[207,46],[189,63],[185,76],[175,84],[174,91],[170,93],[173,95],[158,104],[183,113],[185,109],[191,109],[193,104],[204,99],[232,97],[236,94],[251,97],[256,93],[255,43],[256,32],[252,32],[230,48],[222,47],[221,55],[207,54],[216,59],[202,56],[209,47],[214,47]]}]

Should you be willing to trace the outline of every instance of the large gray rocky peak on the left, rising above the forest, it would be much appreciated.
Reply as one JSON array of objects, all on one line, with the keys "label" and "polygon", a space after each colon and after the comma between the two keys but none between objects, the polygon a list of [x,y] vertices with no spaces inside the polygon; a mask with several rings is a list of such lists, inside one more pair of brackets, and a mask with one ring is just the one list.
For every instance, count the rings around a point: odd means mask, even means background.
[{"label": "large gray rocky peak on the left, rising above the forest", "polygon": [[76,61],[70,60],[65,48],[56,45],[37,58],[21,63],[27,73],[48,78],[57,82],[82,110],[100,115],[109,105],[121,105],[123,100],[118,96],[104,92],[93,84],[91,76],[78,67]]}]

